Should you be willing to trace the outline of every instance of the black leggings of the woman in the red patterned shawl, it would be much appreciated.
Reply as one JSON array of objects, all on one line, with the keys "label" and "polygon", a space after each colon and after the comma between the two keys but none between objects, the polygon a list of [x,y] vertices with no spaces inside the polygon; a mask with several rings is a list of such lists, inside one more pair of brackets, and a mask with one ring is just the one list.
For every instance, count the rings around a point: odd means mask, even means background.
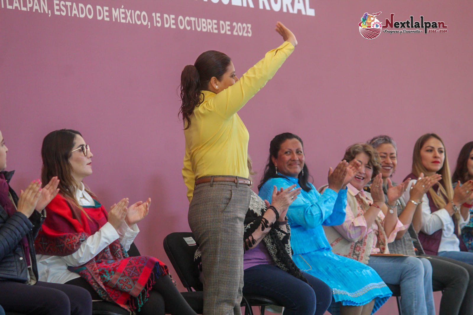
[{"label": "black leggings of the woman in the red patterned shawl", "polygon": [[[100,297],[92,286],[83,278],[76,278],[66,282],[87,289],[92,299],[99,300]],[[148,301],[141,307],[140,315],[197,315],[187,304],[184,297],[175,287],[169,276],[156,280],[153,289],[149,291]]]}]

